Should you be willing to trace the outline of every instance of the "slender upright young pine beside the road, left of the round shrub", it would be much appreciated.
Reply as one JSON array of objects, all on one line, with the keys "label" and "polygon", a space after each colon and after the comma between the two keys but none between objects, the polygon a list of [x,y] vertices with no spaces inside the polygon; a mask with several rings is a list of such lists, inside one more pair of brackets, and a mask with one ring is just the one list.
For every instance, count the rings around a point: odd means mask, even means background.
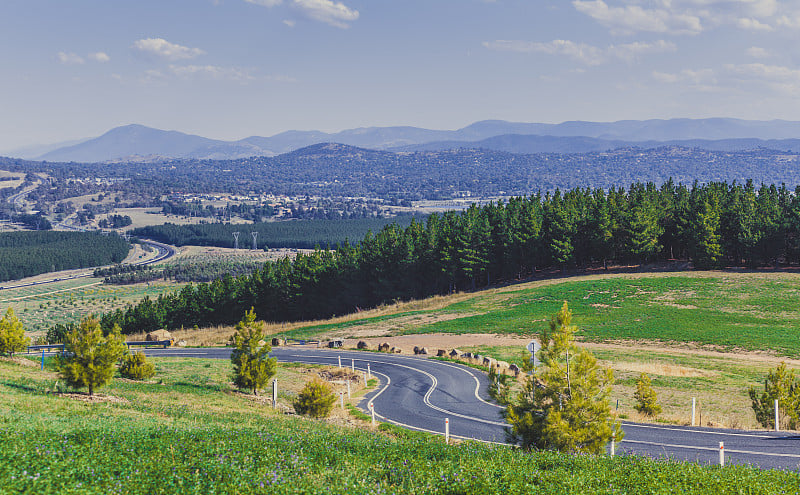
[{"label": "slender upright young pine beside the road, left of the round shrub", "polygon": [[240,389],[247,389],[258,395],[275,375],[277,360],[269,357],[272,346],[264,341],[264,324],[256,322],[253,308],[245,313],[236,324],[236,333],[231,337],[233,352],[233,383]]}]

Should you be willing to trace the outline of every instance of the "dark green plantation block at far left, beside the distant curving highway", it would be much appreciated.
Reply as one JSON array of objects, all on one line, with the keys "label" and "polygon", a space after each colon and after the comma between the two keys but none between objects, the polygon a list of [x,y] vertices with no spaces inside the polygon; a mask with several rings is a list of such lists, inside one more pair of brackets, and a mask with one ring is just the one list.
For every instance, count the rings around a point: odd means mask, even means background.
[{"label": "dark green plantation block at far left, beside the distant curving highway", "polygon": [[0,234],[0,282],[119,263],[129,250],[128,242],[116,234],[6,232]]}]

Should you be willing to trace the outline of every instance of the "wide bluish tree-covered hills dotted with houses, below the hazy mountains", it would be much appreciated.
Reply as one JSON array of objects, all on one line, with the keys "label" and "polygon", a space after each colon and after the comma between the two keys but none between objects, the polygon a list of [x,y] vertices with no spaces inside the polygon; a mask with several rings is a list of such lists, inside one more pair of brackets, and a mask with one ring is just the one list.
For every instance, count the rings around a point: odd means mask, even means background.
[{"label": "wide bluish tree-covered hills dotted with houses, below the hazy mountains", "polygon": [[396,199],[527,195],[575,187],[739,181],[800,184],[800,154],[758,149],[623,148],[609,152],[512,154],[487,150],[391,153],[320,144],[276,157],[156,163],[46,163],[0,159],[0,169],[67,178],[121,177],[119,190],[209,191]]}]

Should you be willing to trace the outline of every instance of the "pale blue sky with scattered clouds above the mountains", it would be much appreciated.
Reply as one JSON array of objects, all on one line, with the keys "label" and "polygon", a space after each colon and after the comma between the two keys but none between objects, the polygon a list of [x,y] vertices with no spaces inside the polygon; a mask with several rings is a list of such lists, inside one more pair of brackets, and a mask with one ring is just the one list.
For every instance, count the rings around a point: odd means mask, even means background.
[{"label": "pale blue sky with scattered clouds above the mountains", "polygon": [[800,120],[800,0],[2,0],[0,151],[125,124]]}]

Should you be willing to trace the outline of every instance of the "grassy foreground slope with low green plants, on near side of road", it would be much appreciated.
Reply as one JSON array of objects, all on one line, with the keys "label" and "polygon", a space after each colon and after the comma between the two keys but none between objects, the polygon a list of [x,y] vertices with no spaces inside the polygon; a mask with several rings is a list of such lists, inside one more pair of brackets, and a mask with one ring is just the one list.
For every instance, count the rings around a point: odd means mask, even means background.
[{"label": "grassy foreground slope with low green plants, on near side of road", "polygon": [[[800,491],[796,473],[446,446],[284,416],[234,392],[227,362],[155,362],[156,381],[117,380],[103,392],[122,401],[108,403],[49,393],[51,371],[0,362],[0,493]],[[280,367],[279,383],[293,384],[283,402],[308,371]]]}]

